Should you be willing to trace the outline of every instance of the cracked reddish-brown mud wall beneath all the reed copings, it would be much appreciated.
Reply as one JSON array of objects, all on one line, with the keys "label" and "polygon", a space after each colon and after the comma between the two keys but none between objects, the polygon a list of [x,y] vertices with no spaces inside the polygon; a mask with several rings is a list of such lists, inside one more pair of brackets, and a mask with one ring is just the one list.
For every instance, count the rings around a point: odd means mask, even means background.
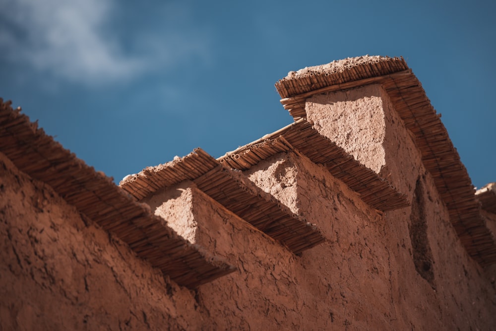
[{"label": "cracked reddish-brown mud wall beneath all the reed copings", "polygon": [[157,192],[146,202],[158,215],[237,267],[196,290],[0,154],[0,330],[494,329],[494,276],[466,254],[410,134],[372,92],[377,160],[411,207],[378,212],[323,166],[276,155],[245,174],[327,239],[295,256],[190,182]]}]

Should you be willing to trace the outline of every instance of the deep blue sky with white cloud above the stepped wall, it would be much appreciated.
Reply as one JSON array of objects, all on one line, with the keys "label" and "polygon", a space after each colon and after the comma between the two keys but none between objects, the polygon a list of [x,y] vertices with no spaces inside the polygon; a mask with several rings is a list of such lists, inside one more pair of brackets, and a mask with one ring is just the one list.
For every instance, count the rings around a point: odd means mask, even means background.
[{"label": "deep blue sky with white cloud above the stepped wall", "polygon": [[496,181],[492,1],[1,0],[0,97],[113,176],[292,121],[274,83],[404,56],[475,186]]}]

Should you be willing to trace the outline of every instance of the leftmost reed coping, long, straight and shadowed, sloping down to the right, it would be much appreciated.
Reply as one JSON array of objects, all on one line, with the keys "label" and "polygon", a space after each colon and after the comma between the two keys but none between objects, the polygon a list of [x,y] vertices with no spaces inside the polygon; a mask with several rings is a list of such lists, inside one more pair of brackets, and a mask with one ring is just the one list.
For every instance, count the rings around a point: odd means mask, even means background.
[{"label": "leftmost reed coping, long, straight and shadowed, sloping down to the right", "polygon": [[86,165],[10,105],[0,99],[0,152],[21,171],[50,185],[180,285],[196,287],[234,271],[188,243],[147,205],[134,201],[111,178]]}]

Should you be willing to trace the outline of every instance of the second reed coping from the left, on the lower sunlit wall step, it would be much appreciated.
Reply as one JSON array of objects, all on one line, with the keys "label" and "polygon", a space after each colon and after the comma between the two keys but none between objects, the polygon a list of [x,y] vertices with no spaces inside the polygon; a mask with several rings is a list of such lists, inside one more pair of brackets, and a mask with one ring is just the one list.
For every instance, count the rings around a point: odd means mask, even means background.
[{"label": "second reed coping from the left, on the lower sunlit wall step", "polygon": [[[266,158],[269,154],[264,152],[264,148],[272,150],[272,153],[285,149],[283,145],[273,144],[272,141],[255,144],[253,148],[257,150],[256,153],[243,155],[247,157],[250,154],[248,158]],[[232,160],[240,158],[234,157]],[[123,180],[121,187],[136,199],[142,199],[160,188],[184,180],[191,180],[226,209],[278,240],[295,254],[324,241],[322,233],[314,225],[293,214],[274,197],[252,184],[245,175],[227,168],[200,148],[175,161],[148,167]]]}]

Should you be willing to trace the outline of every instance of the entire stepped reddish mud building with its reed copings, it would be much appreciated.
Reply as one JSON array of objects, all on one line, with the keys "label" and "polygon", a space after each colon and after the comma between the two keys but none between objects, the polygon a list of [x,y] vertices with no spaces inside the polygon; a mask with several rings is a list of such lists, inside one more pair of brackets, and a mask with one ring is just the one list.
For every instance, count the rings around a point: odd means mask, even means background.
[{"label": "entire stepped reddish mud building with its reed copings", "polygon": [[403,58],[276,88],[291,125],[120,186],[2,102],[0,330],[495,330],[496,187]]}]

